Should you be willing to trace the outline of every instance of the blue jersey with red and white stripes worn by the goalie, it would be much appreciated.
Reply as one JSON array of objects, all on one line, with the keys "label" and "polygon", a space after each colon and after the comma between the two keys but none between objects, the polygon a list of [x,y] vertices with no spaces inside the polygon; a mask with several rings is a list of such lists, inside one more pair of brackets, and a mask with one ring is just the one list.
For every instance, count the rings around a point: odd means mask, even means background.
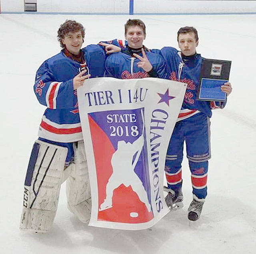
[{"label": "blue jersey with red and white stripes worn by the goalie", "polygon": [[39,127],[40,138],[62,143],[82,140],[73,78],[85,65],[90,78],[102,77],[106,57],[102,47],[97,45],[89,45],[82,52],[85,64],[68,58],[62,51],[46,60],[36,72],[34,92],[38,101],[47,107]]}]

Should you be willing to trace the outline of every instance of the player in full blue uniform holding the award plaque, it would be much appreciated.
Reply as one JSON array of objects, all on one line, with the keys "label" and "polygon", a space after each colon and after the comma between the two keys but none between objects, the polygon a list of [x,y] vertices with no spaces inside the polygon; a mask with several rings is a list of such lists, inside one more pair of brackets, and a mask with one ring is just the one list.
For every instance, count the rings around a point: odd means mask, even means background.
[{"label": "player in full blue uniform holding the award plaque", "polygon": [[[165,171],[168,183],[166,203],[172,208],[180,206],[183,200],[181,163],[183,145],[186,141],[193,189],[193,200],[188,208],[188,219],[198,220],[207,195],[208,160],[211,157],[211,109],[222,109],[226,105],[226,101],[196,100],[202,64],[201,55],[196,53],[198,33],[195,28],[186,26],[178,31],[177,40],[180,51],[171,47],[164,47],[160,51],[166,62],[168,78],[188,84],[166,155]],[[224,83],[221,86],[221,91],[229,95],[232,91],[231,84]]]}]

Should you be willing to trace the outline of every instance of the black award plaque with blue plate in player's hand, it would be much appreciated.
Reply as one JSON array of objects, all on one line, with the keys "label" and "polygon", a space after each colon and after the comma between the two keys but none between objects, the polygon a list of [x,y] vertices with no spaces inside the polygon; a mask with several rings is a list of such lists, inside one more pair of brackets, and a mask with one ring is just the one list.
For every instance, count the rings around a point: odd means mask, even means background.
[{"label": "black award plaque with blue plate in player's hand", "polygon": [[199,81],[199,101],[225,101],[226,93],[220,87],[228,82],[231,61],[202,59],[202,69]]}]

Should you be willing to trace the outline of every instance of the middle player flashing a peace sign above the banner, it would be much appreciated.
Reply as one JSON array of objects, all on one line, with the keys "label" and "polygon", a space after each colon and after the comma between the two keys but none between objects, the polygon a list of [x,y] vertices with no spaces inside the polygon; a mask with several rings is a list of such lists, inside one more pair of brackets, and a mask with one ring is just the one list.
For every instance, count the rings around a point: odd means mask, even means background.
[{"label": "middle player flashing a peace sign above the banner", "polygon": [[[119,45],[122,52],[111,54],[106,59],[107,77],[116,77],[119,79],[138,79],[144,77],[166,77],[166,68],[164,59],[159,54],[150,52],[143,41],[146,38],[146,27],[144,22],[138,19],[129,19],[124,25],[124,35],[127,40],[127,47],[122,48],[118,40],[110,43]],[[108,44],[106,46],[108,52]]]}]

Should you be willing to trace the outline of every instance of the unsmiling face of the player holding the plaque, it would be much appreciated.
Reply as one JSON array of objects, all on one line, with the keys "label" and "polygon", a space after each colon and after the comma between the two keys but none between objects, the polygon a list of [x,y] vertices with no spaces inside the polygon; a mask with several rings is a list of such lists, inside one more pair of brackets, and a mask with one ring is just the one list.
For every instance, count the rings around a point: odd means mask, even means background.
[{"label": "unsmiling face of the player holding the plaque", "polygon": [[198,41],[196,41],[195,34],[193,32],[179,34],[178,44],[182,54],[185,56],[192,56],[196,54]]}]

